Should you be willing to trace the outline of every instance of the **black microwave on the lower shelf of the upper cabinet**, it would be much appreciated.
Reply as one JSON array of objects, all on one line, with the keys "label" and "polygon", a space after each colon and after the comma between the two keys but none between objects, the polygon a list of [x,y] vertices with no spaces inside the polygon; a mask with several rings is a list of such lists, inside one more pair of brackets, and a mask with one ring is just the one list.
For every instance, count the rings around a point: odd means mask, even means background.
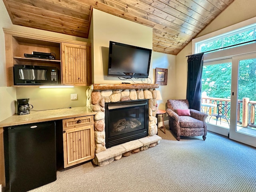
[{"label": "black microwave on the lower shelf of the upper cabinet", "polygon": [[58,84],[58,68],[51,66],[14,65],[14,85]]}]

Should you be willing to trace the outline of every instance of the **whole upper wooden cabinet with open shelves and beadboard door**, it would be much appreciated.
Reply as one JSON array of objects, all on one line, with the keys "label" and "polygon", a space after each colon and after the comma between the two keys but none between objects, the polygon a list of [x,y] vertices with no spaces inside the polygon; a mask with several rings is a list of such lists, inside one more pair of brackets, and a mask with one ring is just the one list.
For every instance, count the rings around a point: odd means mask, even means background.
[{"label": "whole upper wooden cabinet with open shelves and beadboard door", "polygon": [[[91,45],[87,42],[28,34],[4,29],[7,86],[14,86],[13,66],[37,65],[58,68],[58,82],[87,86],[91,82]],[[27,58],[32,52],[51,53],[54,59]]]}]

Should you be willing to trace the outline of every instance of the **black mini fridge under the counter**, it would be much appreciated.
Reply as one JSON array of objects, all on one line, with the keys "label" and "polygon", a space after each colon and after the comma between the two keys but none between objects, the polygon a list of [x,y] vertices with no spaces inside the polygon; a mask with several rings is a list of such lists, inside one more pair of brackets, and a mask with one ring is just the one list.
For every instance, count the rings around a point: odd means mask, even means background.
[{"label": "black mini fridge under the counter", "polygon": [[26,192],[55,181],[55,122],[11,126],[6,131],[6,186],[10,192]]}]

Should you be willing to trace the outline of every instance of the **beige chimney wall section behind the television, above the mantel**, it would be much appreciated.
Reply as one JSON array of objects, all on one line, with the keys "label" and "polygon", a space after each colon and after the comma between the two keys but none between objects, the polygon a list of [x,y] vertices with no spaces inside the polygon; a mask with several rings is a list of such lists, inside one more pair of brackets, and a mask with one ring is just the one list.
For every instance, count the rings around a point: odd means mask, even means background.
[{"label": "beige chimney wall section behind the television, above the mantel", "polygon": [[[92,28],[93,26],[93,28]],[[144,26],[100,10],[93,10],[93,83],[121,83],[117,77],[108,77],[108,47],[109,41],[140,46],[152,49],[152,28]],[[150,66],[149,77],[152,79],[152,65]],[[141,81],[135,80],[140,83]],[[130,80],[126,82],[132,83]]]}]

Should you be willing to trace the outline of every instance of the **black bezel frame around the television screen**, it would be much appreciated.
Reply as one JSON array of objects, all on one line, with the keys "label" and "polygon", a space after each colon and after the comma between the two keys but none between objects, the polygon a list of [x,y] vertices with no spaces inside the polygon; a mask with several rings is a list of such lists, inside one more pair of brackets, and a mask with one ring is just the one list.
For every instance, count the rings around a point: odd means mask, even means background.
[{"label": "black bezel frame around the television screen", "polygon": [[[112,45],[113,43],[118,46],[125,46],[129,48],[134,48],[134,49],[139,49],[139,50],[146,50],[149,51],[149,59],[148,59],[148,70],[147,73],[124,73],[124,75],[121,74],[110,74],[110,69],[111,69],[111,55],[112,55]],[[109,41],[109,51],[108,51],[108,77],[124,77],[124,78],[148,78],[149,75],[149,70],[150,70],[150,62],[151,62],[151,55],[152,55],[152,49],[148,48],[143,48],[143,47],[138,47],[138,46],[133,46],[129,44],[124,44],[124,43],[119,43],[119,42],[114,42],[114,41]]]}]

